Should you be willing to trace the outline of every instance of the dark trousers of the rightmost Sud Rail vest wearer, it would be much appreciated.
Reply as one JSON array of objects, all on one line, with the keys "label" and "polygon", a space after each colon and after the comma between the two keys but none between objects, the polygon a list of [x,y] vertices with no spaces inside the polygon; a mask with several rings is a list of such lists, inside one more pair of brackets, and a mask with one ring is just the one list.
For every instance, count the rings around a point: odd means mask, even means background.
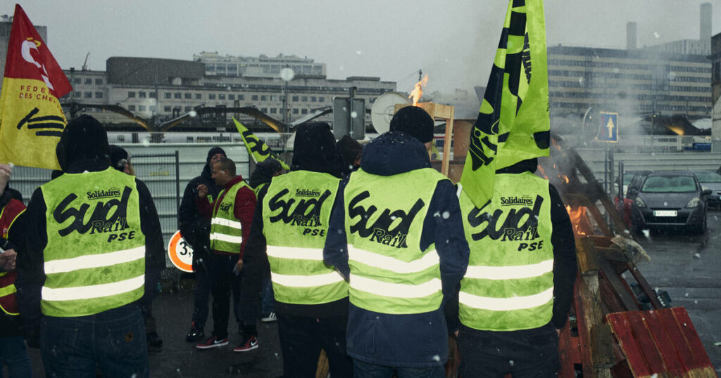
[{"label": "dark trousers of the rightmost Sud Rail vest wearer", "polygon": [[556,377],[558,333],[551,323],[531,330],[487,331],[461,325],[461,377]]}]

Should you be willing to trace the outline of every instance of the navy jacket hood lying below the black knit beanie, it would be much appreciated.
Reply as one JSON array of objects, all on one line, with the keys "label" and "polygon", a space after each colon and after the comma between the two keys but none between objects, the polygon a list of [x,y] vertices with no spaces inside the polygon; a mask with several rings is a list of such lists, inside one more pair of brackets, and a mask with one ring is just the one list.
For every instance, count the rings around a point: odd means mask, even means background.
[{"label": "navy jacket hood lying below the black knit beanie", "polygon": [[392,176],[420,168],[430,168],[428,151],[406,132],[386,132],[363,149],[361,169],[369,174]]}]

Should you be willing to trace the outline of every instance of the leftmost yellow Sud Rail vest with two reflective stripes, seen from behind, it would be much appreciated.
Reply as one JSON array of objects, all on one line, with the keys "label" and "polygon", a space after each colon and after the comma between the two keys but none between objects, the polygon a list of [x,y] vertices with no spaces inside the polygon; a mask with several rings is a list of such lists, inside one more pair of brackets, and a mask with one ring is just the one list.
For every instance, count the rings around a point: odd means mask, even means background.
[{"label": "leftmost yellow Sud Rail vest with two reflective stripes, seen from behind", "polygon": [[142,297],[145,236],[135,180],[107,168],[40,186],[48,208],[45,315],[93,315]]}]

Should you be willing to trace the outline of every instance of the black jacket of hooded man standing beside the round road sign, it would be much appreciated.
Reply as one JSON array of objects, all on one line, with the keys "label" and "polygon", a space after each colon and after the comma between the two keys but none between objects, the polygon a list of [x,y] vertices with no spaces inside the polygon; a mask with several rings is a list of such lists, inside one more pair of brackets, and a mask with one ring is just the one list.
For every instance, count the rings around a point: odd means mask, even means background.
[{"label": "black jacket of hooded man standing beside the round road sign", "polygon": [[178,209],[178,225],[180,225],[180,233],[190,246],[193,246],[193,266],[198,268],[198,258],[209,253],[211,248],[211,220],[203,217],[195,206],[195,197],[198,197],[198,185],[205,184],[208,186],[208,199],[214,201],[221,192],[221,187],[217,186],[211,177],[211,167],[205,164],[203,172],[200,176],[190,180],[185,186],[185,192],[182,194],[180,208]]}]

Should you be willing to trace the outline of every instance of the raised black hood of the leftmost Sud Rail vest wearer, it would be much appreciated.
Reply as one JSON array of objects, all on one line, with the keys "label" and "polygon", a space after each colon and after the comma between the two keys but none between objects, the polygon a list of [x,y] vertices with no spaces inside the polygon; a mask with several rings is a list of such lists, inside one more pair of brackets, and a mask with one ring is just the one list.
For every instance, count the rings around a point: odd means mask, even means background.
[{"label": "raised black hood of the leftmost Sud Rail vest wearer", "polygon": [[63,171],[82,160],[110,163],[105,127],[87,114],[68,122],[55,152]]}]

